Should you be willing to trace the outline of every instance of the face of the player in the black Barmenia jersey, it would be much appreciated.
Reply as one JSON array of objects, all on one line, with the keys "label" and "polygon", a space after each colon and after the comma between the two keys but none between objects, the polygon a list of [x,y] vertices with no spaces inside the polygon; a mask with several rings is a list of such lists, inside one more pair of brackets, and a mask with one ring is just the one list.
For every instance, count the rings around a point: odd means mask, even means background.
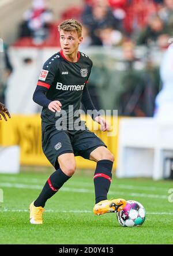
[{"label": "face of the player in the black Barmenia jersey", "polygon": [[60,30],[60,43],[65,55],[77,54],[78,46],[82,42],[82,37],[79,37],[77,31]]}]

